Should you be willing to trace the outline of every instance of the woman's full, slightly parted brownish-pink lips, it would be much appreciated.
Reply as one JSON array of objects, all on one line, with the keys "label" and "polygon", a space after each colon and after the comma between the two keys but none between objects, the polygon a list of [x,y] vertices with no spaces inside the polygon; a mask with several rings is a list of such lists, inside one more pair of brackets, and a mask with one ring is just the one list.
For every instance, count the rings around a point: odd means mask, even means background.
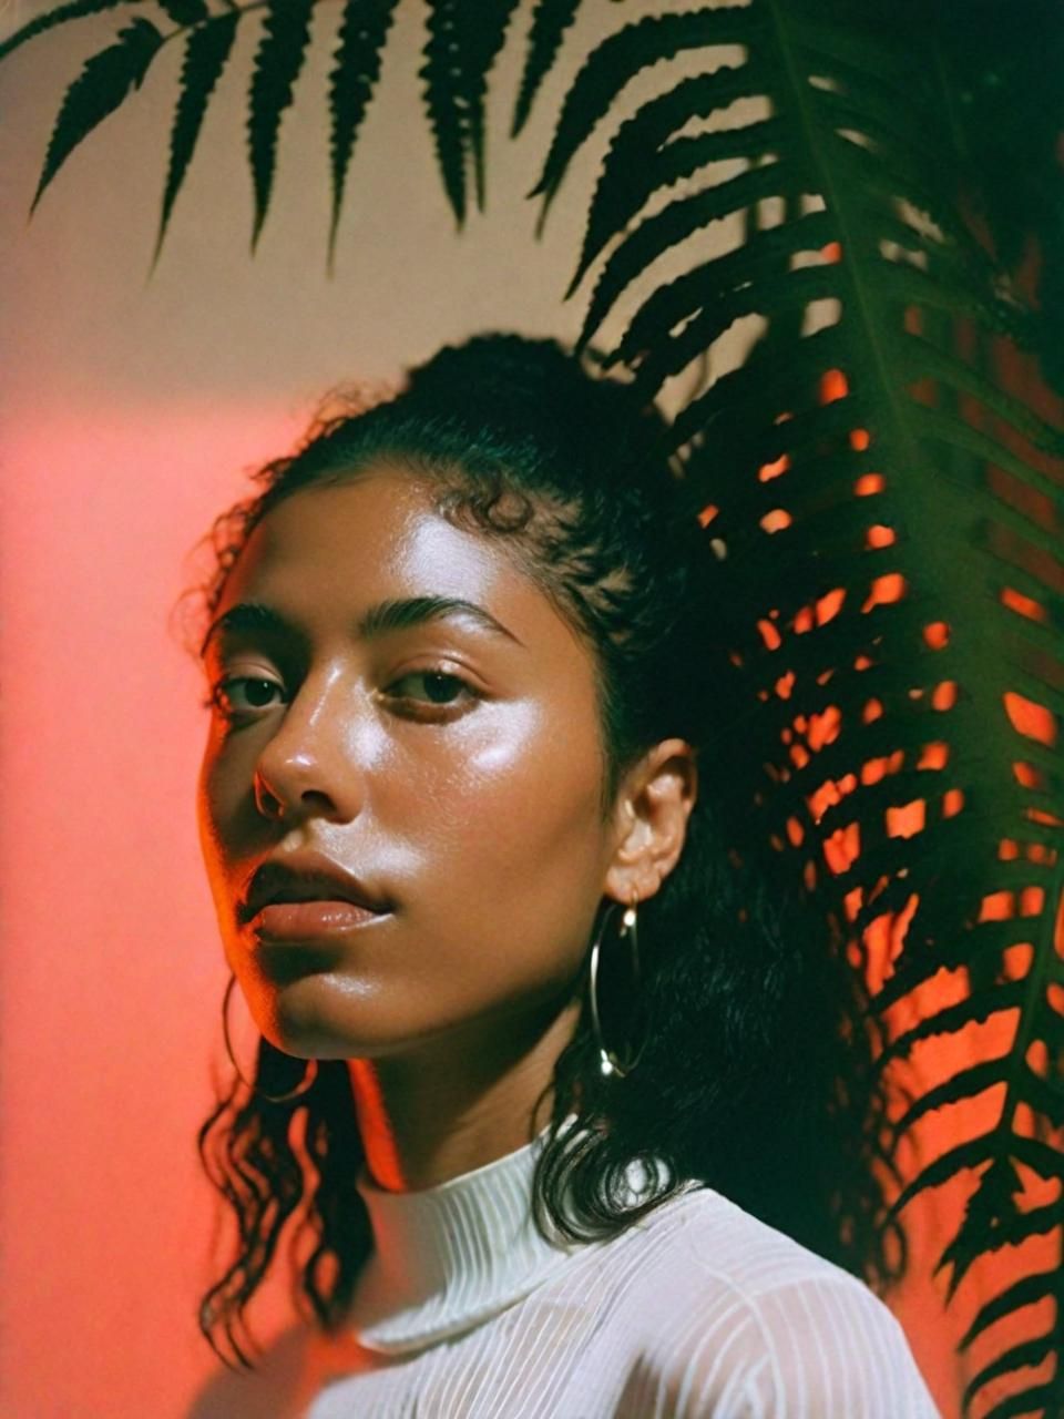
[{"label": "woman's full, slightly parted brownish-pink lips", "polygon": [[321,853],[289,853],[262,863],[240,905],[241,925],[260,917],[261,925],[338,929],[387,914],[384,894]]}]

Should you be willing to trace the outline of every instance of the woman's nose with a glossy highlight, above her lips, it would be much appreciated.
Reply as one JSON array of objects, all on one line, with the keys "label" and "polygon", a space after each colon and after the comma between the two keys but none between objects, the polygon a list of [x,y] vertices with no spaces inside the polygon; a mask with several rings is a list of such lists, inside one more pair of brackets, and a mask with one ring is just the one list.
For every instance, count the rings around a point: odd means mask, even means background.
[{"label": "woman's nose with a glossy highlight, above her lips", "polygon": [[342,671],[308,675],[255,762],[253,792],[262,817],[343,823],[360,812],[358,694]]}]

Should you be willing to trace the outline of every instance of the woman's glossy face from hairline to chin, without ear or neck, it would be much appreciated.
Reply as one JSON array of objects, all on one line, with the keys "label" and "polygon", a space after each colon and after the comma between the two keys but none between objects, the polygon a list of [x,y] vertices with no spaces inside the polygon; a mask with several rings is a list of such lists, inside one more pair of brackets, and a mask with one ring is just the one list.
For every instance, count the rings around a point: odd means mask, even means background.
[{"label": "woman's glossy face from hairline to chin, without ear or neck", "polygon": [[[360,626],[431,597],[484,619]],[[451,526],[413,475],[379,464],[275,507],[218,622],[200,840],[267,1039],[322,1059],[482,1049],[569,1000],[616,846],[593,668],[504,543]],[[291,908],[247,920],[257,870],[308,854],[390,910],[350,925],[339,908],[331,928]]]}]

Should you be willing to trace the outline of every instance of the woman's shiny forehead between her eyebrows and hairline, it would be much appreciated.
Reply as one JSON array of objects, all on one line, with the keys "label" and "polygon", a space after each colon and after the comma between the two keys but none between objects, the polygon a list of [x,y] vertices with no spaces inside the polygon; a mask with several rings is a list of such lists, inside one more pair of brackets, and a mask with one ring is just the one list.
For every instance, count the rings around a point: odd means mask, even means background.
[{"label": "woman's shiny forehead between her eyebrows and hairline", "polygon": [[392,597],[477,602],[528,644],[576,633],[519,566],[505,538],[454,526],[430,488],[392,465],[285,498],[254,528],[217,612],[268,602],[304,622],[349,622]]}]

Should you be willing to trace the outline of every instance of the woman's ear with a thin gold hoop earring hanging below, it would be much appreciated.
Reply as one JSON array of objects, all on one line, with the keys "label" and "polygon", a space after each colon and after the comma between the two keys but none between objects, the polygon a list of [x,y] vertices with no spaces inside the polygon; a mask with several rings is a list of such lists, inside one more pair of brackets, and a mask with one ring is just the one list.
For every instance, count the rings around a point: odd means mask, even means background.
[{"label": "woman's ear with a thin gold hoop earring hanging below", "polygon": [[603,890],[616,901],[653,897],[680,861],[698,797],[697,749],[663,739],[624,776]]}]

